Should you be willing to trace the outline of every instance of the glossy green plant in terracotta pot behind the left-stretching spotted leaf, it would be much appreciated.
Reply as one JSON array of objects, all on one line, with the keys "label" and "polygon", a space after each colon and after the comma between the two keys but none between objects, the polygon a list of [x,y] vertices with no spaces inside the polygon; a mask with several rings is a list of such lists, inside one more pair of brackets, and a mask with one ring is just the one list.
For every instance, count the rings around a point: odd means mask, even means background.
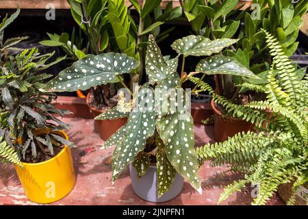
[{"label": "glossy green plant in terracotta pot behind the left-stretching spotted leaf", "polygon": [[[162,0],[154,2],[144,0],[140,5],[138,1],[131,0],[131,5],[128,7],[125,0],[70,0],[68,3],[70,3],[72,16],[86,34],[87,47],[81,49],[82,43],[73,40],[73,36],[71,37],[72,40],[69,40],[66,33],[61,36],[49,34],[50,40],[41,42],[49,46],[60,46],[70,57],[77,57],[78,59],[84,57],[84,53],[99,55],[112,51],[125,53],[140,61],[140,66],[131,72],[130,77],[118,77],[110,83],[89,88],[86,102],[94,117],[114,107],[117,90],[123,88],[123,81],[129,81],[129,87],[133,83],[141,81],[146,48],[144,41],[147,36],[152,33],[157,40],[162,41],[168,38],[168,34],[174,29],[172,27],[160,31],[160,26],[164,22],[179,18],[181,8],[172,8],[172,1],[170,1],[163,12],[160,6],[161,2]],[[132,10],[135,10],[138,14],[138,23],[132,14]],[[150,14],[153,14],[155,19],[152,19]],[[72,35],[75,36],[74,33]],[[74,46],[74,42],[79,46]],[[94,130],[99,132],[103,140],[107,140],[126,122],[127,118],[95,120]]]}]

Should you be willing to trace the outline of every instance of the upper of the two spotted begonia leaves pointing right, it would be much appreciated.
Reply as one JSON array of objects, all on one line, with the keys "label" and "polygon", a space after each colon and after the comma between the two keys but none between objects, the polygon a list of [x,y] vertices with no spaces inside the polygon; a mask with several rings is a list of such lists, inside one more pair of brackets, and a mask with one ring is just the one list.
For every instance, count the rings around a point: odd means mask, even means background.
[{"label": "upper of the two spotted begonia leaves pointing right", "polygon": [[203,56],[219,53],[222,49],[231,46],[231,44],[234,44],[237,41],[238,40],[229,38],[210,40],[204,36],[190,35],[179,40],[175,40],[171,47],[181,55]]}]

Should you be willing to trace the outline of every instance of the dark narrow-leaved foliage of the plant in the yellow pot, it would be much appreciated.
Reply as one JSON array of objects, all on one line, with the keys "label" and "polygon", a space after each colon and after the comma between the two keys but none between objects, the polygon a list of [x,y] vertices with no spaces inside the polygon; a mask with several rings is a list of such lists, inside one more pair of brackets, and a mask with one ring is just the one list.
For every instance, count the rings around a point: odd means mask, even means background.
[{"label": "dark narrow-leaved foliage of the plant in the yellow pot", "polygon": [[[66,111],[55,110],[51,101],[56,96],[42,92],[51,75],[44,70],[62,61],[46,62],[53,55],[40,55],[38,49],[17,49],[13,46],[23,38],[3,41],[3,30],[18,16],[18,10],[0,24],[0,158],[21,164],[42,162],[56,155],[62,145],[72,143],[53,134],[68,126],[56,118]],[[41,133],[47,130],[46,133]]]}]

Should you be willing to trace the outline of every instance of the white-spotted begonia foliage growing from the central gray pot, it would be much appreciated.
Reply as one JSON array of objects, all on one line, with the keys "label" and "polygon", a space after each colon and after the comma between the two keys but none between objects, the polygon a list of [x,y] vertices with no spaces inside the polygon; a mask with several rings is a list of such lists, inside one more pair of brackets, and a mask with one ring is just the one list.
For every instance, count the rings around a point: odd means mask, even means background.
[{"label": "white-spotted begonia foliage growing from the central gray pot", "polygon": [[[176,40],[172,49],[184,57],[209,56],[219,53],[236,41],[229,38],[211,41],[203,36],[187,36]],[[179,77],[179,55],[170,59],[163,56],[154,36],[150,35],[145,57],[149,83],[143,86],[136,84],[133,90],[125,86],[126,90],[118,93],[118,104],[95,118],[112,120],[128,117],[127,124],[103,145],[103,148],[116,145],[112,155],[112,181],[118,179],[130,163],[136,168],[138,177],[146,174],[151,164],[156,164],[158,197],[170,189],[176,172],[201,192],[198,159],[194,149],[193,120],[190,112],[187,112],[190,95],[181,88],[182,83],[196,73],[183,73],[183,62]],[[212,73],[229,70],[241,77],[256,77],[232,58],[213,55],[209,59],[209,62],[213,62],[209,65]],[[86,90],[130,73],[138,64],[137,60],[125,54],[88,55],[62,71],[45,89]],[[200,66],[203,67],[205,66]]]}]

